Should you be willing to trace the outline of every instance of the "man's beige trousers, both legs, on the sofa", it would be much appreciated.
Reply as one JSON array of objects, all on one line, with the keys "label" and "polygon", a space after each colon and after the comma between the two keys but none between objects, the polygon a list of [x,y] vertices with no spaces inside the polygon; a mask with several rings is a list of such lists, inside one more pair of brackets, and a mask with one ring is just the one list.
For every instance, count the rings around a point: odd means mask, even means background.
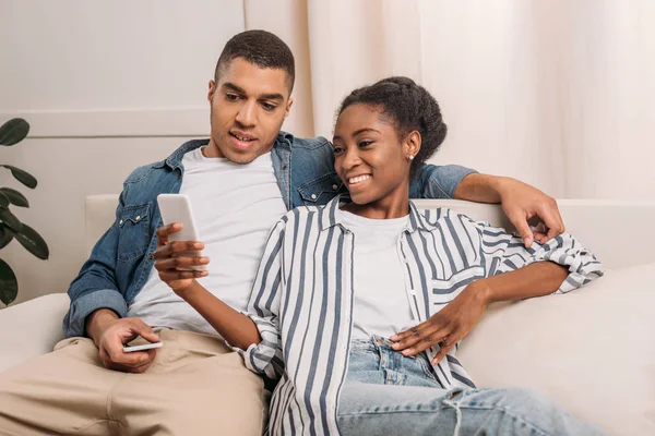
[{"label": "man's beige trousers, both legs, on the sofa", "polygon": [[261,435],[269,395],[219,339],[162,330],[143,374],[107,370],[88,338],[0,373],[2,435]]}]

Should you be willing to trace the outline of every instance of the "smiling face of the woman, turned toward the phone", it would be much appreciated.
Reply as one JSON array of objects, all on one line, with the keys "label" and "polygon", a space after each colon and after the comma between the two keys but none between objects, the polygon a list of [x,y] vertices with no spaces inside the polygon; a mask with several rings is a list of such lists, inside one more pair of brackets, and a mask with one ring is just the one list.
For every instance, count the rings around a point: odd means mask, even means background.
[{"label": "smiling face of the woman, turned toward the phone", "polygon": [[359,205],[397,198],[409,193],[407,156],[416,155],[420,135],[398,138],[392,122],[381,118],[374,106],[348,106],[334,128],[334,169]]}]

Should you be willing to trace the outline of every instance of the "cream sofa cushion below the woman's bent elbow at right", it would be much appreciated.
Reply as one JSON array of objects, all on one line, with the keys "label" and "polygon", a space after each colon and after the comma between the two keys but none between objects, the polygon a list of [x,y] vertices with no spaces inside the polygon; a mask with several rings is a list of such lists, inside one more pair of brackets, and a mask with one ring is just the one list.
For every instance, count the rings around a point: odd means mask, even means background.
[{"label": "cream sofa cushion below the woman's bent elbow at right", "polygon": [[478,387],[526,387],[608,434],[655,434],[655,264],[490,307],[460,348]]}]

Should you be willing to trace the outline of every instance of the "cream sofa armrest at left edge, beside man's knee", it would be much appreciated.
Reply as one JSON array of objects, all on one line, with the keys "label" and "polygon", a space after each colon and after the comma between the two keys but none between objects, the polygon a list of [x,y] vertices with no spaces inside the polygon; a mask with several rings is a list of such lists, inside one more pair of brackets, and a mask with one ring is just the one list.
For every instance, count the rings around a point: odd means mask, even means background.
[{"label": "cream sofa armrest at left edge, beside man's knee", "polygon": [[53,293],[0,311],[0,372],[52,351],[63,339],[66,293]]}]

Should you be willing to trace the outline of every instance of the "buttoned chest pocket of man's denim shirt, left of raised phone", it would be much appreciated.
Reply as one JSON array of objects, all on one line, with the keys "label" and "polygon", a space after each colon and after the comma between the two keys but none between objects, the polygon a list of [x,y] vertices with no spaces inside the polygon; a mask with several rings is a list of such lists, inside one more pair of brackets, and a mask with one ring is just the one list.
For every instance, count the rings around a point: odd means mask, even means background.
[{"label": "buttoned chest pocket of man's denim shirt, left of raised phone", "polygon": [[118,261],[131,262],[147,250],[150,205],[123,207],[118,220]]}]

